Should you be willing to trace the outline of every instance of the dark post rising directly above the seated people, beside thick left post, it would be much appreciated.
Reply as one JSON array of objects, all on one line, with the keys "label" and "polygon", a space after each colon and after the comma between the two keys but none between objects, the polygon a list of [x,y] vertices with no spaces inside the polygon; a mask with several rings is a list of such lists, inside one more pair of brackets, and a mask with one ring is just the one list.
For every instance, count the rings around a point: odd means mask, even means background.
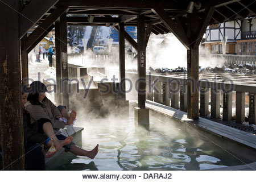
[{"label": "dark post rising directly above the seated people, beside thick left post", "polygon": [[28,85],[28,53],[26,49],[27,34],[20,39],[20,50],[22,59],[22,82]]}]

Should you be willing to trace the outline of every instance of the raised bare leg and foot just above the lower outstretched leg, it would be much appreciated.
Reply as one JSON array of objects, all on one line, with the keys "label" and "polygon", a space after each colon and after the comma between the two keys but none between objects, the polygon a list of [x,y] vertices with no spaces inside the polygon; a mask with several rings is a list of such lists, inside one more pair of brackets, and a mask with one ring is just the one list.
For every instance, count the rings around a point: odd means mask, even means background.
[{"label": "raised bare leg and foot just above the lower outstretched leg", "polygon": [[63,147],[65,144],[71,143],[73,140],[73,137],[68,137],[65,140],[57,139],[57,137],[53,131],[52,124],[50,122],[46,122],[43,124],[43,131],[47,137],[49,137],[53,140],[53,143],[54,143],[57,151],[59,151],[61,149],[61,147]]}]

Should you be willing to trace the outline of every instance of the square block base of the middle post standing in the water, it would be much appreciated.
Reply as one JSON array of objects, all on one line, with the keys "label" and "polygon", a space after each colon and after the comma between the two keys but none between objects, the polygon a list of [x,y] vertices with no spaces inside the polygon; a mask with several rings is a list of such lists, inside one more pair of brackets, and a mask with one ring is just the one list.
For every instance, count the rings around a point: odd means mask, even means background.
[{"label": "square block base of the middle post standing in the water", "polygon": [[134,121],[138,125],[149,125],[149,109],[134,108]]}]

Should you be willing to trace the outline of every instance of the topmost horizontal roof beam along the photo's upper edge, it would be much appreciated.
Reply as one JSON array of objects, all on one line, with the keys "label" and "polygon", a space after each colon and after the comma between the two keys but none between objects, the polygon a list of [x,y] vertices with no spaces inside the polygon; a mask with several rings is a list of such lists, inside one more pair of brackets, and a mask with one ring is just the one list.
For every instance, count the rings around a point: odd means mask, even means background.
[{"label": "topmost horizontal roof beam along the photo's upper edge", "polygon": [[170,9],[170,10],[178,10],[176,2],[168,1],[154,1],[147,0],[144,2],[143,0],[98,0],[97,3],[94,1],[81,1],[81,0],[62,0],[57,3],[57,6],[68,6],[68,7],[100,7],[100,8],[125,8],[125,9]]}]

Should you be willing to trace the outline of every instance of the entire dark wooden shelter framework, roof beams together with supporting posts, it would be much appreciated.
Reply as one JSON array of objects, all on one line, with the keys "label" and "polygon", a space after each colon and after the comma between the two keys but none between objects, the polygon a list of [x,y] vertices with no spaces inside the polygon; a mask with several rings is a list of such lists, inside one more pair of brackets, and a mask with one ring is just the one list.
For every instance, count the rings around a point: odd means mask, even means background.
[{"label": "entire dark wooden shelter framework, roof beams together with supporting posts", "polygon": [[[24,5],[23,2],[26,2]],[[209,24],[256,15],[254,0],[1,0],[0,1],[0,135],[3,168],[24,169],[20,82],[28,78],[27,54],[55,27],[56,78],[68,78],[67,25],[114,26],[119,31],[120,80],[125,78],[125,39],[138,52],[138,108],[146,102],[146,46],[151,32],[172,32],[188,49],[188,79],[199,81],[199,44]],[[69,16],[72,14],[73,16]],[[125,31],[137,26],[138,41]],[[27,35],[28,31],[32,31]],[[21,57],[21,61],[20,61]],[[20,63],[21,68],[20,68]],[[20,74],[22,70],[22,76]],[[199,118],[199,90],[188,82],[188,118]],[[125,88],[125,84],[124,88]],[[68,83],[63,84],[68,106]],[[125,94],[122,95],[125,100]],[[146,111],[146,119],[149,118]],[[143,115],[143,114],[142,114]],[[145,118],[140,117],[142,120]],[[143,121],[149,122],[149,121]],[[10,155],[11,154],[11,155]]]}]

